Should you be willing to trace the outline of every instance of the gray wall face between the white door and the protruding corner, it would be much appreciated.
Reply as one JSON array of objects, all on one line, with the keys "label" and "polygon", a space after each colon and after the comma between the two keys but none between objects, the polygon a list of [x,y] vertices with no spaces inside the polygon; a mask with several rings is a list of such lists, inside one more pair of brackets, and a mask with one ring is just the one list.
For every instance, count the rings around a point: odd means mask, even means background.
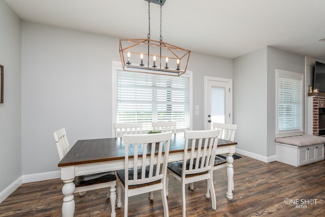
[{"label": "gray wall face between the white door and the protruding corner", "polygon": [[267,154],[267,48],[234,60],[234,123],[237,148]]}]

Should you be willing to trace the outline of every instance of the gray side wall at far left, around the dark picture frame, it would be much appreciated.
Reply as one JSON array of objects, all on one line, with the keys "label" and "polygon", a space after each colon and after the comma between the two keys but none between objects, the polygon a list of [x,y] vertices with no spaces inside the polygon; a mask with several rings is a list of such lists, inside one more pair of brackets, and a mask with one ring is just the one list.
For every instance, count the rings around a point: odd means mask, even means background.
[{"label": "gray side wall at far left, around the dark picture frame", "polygon": [[4,104],[0,104],[0,192],[21,176],[21,21],[0,1],[0,65]]}]

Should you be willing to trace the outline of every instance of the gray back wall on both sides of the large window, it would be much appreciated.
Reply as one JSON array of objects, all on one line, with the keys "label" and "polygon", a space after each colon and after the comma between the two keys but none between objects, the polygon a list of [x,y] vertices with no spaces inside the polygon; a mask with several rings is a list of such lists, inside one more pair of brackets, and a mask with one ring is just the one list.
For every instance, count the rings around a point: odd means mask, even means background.
[{"label": "gray back wall on both sides of the large window", "polygon": [[[78,139],[111,137],[112,61],[119,39],[22,22],[22,174],[59,168],[53,131]],[[204,129],[204,76],[232,78],[233,60],[191,53],[193,129]],[[35,137],[37,131],[37,139]]]}]

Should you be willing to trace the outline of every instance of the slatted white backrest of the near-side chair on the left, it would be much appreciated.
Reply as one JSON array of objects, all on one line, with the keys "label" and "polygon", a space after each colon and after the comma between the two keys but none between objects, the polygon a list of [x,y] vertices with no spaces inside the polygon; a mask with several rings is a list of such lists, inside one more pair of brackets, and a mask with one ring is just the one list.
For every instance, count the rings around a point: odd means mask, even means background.
[{"label": "slatted white backrest of the near-side chair on the left", "polygon": [[[129,185],[158,181],[167,173],[171,132],[157,134],[124,135],[125,144],[125,189]],[[129,158],[129,150],[134,149],[134,158]],[[138,167],[142,167],[138,174]],[[128,179],[130,169],[133,179]]]}]

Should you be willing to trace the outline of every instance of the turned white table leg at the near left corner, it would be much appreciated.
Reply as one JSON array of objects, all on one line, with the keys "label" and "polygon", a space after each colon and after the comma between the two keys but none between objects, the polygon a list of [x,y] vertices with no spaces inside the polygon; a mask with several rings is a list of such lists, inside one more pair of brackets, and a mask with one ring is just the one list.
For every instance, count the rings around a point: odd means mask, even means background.
[{"label": "turned white table leg at the near left corner", "polygon": [[75,184],[73,179],[63,180],[62,194],[64,195],[62,203],[62,217],[73,217],[75,213],[75,200],[73,192],[75,191]]}]

